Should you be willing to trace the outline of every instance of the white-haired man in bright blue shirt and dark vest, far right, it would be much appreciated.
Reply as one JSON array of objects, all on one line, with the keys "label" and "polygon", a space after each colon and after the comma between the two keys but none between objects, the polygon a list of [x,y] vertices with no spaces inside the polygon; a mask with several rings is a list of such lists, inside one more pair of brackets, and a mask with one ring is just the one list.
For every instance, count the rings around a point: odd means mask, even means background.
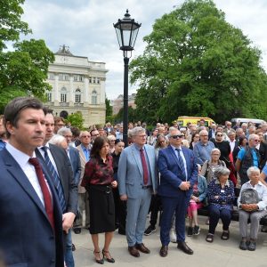
[{"label": "white-haired man in bright blue shirt and dark vest, far right", "polygon": [[239,151],[236,161],[236,170],[239,173],[241,185],[249,181],[247,176],[247,170],[251,166],[259,167],[260,154],[256,150],[256,146],[260,142],[260,138],[257,134],[250,134],[248,136],[248,146]]}]

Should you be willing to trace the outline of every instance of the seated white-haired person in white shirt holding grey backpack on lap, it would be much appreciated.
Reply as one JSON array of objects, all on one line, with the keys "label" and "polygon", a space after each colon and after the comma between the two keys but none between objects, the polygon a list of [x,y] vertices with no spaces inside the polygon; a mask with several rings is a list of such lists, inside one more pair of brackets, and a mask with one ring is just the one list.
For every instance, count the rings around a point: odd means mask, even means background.
[{"label": "seated white-haired person in white shirt holding grey backpack on lap", "polygon": [[[238,199],[239,230],[241,241],[239,248],[254,251],[261,218],[267,214],[267,188],[260,181],[260,170],[251,166],[247,170],[249,181],[244,183]],[[250,219],[250,235],[247,236],[247,221]]]}]

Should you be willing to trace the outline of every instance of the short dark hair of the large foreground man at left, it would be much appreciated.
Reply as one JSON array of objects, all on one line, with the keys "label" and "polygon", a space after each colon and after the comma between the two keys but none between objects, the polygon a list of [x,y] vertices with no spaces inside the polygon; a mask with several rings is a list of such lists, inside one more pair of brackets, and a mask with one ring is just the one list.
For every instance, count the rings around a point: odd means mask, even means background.
[{"label": "short dark hair of the large foreground man at left", "polygon": [[[42,109],[44,111],[44,115],[46,115],[43,103],[38,99],[33,97],[17,97],[10,101],[4,109],[5,129],[7,123],[17,127],[20,119],[20,112],[24,109]],[[11,134],[6,131],[6,135],[7,137],[10,137]]]}]

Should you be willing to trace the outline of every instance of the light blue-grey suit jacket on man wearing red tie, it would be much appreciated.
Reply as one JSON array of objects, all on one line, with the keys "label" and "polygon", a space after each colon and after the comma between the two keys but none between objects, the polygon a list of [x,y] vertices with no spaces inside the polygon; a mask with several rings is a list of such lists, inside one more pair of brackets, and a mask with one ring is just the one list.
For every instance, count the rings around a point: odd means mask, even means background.
[{"label": "light blue-grey suit jacket on man wearing red tie", "polygon": [[[153,192],[158,187],[158,170],[155,150],[150,145],[144,146],[149,159],[150,178]],[[127,195],[128,198],[138,198],[138,192],[143,185],[142,161],[134,144],[122,151],[117,169],[117,182],[119,194]]]}]

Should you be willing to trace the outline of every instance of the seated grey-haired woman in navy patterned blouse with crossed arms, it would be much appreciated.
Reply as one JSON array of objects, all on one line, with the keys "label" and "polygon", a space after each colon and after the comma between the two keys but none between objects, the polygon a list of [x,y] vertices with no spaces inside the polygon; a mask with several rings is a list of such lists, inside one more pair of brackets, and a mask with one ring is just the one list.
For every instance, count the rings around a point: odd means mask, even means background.
[{"label": "seated grey-haired woman in navy patterned blouse with crossed arms", "polygon": [[223,234],[221,239],[229,239],[229,225],[231,223],[231,211],[235,198],[234,185],[228,180],[230,171],[227,167],[220,166],[215,171],[215,179],[207,187],[207,201],[209,210],[209,230],[206,236],[207,242],[214,241],[214,232],[220,220],[223,222]]}]

